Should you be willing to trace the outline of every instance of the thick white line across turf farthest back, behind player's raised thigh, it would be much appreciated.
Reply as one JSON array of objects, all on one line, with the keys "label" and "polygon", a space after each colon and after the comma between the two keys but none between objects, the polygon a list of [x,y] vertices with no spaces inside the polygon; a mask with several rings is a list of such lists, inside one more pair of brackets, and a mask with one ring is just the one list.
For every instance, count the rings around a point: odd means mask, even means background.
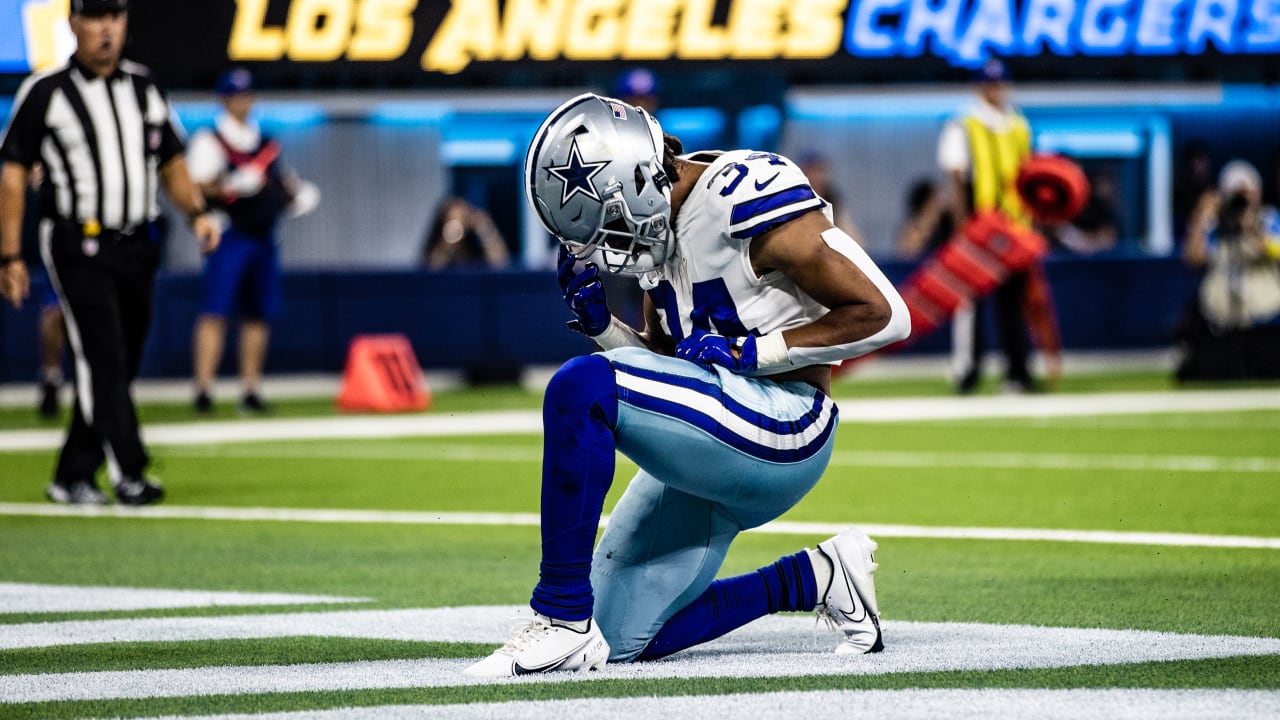
[{"label": "thick white line across turf farthest back, behind player's raised thigh", "polygon": [[[1280,389],[1221,389],[979,397],[841,397],[841,423],[901,423],[977,418],[1066,418],[1144,413],[1277,410]],[[264,419],[145,425],[148,445],[209,445],[279,439],[449,437],[540,433],[541,413],[511,410],[393,416]],[[6,430],[0,452],[60,447],[63,430]]]}]

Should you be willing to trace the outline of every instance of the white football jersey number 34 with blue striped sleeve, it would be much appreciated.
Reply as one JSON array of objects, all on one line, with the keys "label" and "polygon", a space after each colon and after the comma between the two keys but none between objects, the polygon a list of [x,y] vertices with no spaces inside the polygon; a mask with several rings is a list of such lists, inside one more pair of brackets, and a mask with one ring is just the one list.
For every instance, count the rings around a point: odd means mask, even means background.
[{"label": "white football jersey number 34 with blue striped sleeve", "polygon": [[[663,329],[680,342],[699,328],[727,337],[762,336],[808,324],[827,313],[781,272],[756,277],[751,240],[813,210],[831,219],[791,160],[753,150],[696,152],[708,163],[675,218],[673,254],[641,286]],[[777,368],[774,372],[794,368]],[[767,374],[767,373],[758,373]]]}]

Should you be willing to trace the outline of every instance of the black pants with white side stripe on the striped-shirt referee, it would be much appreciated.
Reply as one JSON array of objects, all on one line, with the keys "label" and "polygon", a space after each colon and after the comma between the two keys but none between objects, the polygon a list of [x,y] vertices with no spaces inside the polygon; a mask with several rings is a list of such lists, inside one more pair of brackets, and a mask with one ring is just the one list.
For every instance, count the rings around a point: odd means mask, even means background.
[{"label": "black pants with white side stripe on the striped-shirt referee", "polygon": [[52,225],[45,264],[76,366],[72,424],[54,479],[92,480],[108,454],[122,475],[141,477],[148,457],[131,386],[151,325],[159,246],[150,231],[84,238],[78,228]]}]

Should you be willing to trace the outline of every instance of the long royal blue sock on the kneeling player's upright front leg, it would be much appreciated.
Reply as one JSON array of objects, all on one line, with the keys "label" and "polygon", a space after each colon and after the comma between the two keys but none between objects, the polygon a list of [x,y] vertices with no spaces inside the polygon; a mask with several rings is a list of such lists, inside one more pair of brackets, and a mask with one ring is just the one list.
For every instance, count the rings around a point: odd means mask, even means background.
[{"label": "long royal blue sock on the kneeling player's upright front leg", "polygon": [[543,397],[543,562],[532,609],[591,616],[591,551],[613,483],[618,421],[613,365],[599,355],[561,366]]}]

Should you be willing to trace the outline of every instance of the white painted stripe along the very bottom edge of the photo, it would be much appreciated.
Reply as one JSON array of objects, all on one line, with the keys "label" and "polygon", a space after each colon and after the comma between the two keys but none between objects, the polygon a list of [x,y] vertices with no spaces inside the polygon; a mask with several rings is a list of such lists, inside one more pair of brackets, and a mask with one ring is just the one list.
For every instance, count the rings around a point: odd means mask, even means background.
[{"label": "white painted stripe along the very bottom edge of the photo", "polygon": [[[840,717],[876,720],[1274,720],[1280,691],[1236,689],[906,689],[735,693],[384,705],[253,715],[166,715],[151,720],[547,720],[548,717]],[[783,715],[780,715],[783,714]],[[147,720],[147,719],[140,719]]]}]

